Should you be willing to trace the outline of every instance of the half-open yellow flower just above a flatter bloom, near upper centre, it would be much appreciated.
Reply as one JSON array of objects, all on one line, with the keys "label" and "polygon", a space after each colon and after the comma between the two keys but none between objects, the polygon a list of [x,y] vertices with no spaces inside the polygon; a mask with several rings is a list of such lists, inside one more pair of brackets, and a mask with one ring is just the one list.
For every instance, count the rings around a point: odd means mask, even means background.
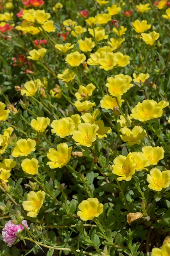
[{"label": "half-open yellow flower just above a flatter bloom, near upper centre", "polygon": [[93,91],[96,89],[94,84],[88,84],[86,87],[83,85],[79,86],[78,92],[75,93],[77,100],[87,99],[93,94]]}]

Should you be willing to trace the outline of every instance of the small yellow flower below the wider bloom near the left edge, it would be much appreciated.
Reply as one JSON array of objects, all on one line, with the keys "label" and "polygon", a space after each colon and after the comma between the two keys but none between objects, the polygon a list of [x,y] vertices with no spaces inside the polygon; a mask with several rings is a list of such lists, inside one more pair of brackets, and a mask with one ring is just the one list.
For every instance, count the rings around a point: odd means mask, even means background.
[{"label": "small yellow flower below the wider bloom near the left edge", "polygon": [[38,173],[38,160],[35,158],[32,158],[31,160],[26,158],[22,161],[21,167],[24,172],[35,175]]}]

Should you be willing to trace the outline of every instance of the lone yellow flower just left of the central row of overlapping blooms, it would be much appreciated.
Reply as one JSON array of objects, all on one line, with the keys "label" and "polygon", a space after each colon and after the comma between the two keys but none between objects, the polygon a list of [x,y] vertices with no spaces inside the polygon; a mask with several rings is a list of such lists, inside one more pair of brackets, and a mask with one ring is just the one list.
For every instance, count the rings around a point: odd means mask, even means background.
[{"label": "lone yellow flower just left of the central row of overlapping blooms", "polygon": [[31,127],[38,132],[44,132],[47,126],[50,124],[50,119],[48,117],[37,117],[31,120]]}]

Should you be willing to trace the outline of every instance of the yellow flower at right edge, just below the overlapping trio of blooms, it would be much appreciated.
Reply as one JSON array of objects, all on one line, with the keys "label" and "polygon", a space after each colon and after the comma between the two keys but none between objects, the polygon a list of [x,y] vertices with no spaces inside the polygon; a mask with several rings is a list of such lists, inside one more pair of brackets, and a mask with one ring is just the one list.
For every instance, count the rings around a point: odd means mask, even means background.
[{"label": "yellow flower at right edge, just below the overlapping trio of blooms", "polygon": [[161,172],[158,168],[150,170],[150,174],[147,174],[148,187],[155,191],[161,191],[164,188],[170,186],[170,170]]}]

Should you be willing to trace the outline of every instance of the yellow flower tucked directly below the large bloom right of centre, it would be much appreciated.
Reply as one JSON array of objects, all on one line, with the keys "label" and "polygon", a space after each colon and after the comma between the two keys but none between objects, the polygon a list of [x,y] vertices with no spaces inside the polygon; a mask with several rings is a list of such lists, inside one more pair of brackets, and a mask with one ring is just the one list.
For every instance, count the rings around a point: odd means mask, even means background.
[{"label": "yellow flower tucked directly below the large bloom right of centre", "polygon": [[[121,96],[118,96],[117,99],[118,99],[119,105],[121,107],[122,102],[124,102],[124,100],[121,99]],[[103,96],[103,99],[101,99],[101,101],[100,101],[100,106],[101,106],[101,108],[105,108],[106,110],[113,109],[113,108],[118,108],[116,99],[112,98],[109,95]]]}]

